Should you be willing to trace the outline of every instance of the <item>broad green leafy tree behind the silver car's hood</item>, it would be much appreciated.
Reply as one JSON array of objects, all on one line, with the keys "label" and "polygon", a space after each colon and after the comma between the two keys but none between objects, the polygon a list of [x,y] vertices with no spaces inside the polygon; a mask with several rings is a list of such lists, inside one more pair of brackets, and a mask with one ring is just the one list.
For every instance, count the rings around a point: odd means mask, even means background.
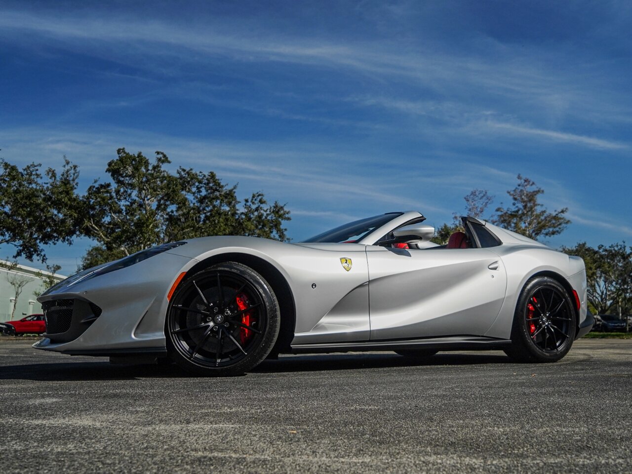
[{"label": "broad green leafy tree behind the silver car's hood", "polygon": [[156,152],[154,162],[138,152],[117,151],[107,164],[110,181],[95,181],[82,198],[82,233],[97,241],[82,267],[125,257],[166,241],[209,235],[248,235],[286,240],[283,222],[289,210],[262,193],[240,202],[210,171],[166,169],[169,158]]}]

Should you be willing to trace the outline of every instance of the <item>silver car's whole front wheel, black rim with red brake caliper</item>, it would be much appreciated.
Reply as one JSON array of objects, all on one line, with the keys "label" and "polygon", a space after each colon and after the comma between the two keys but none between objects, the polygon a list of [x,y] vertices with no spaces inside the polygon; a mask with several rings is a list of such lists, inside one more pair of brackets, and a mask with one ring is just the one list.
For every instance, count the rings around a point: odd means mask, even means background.
[{"label": "silver car's whole front wheel, black rim with red brake caliper", "polygon": [[240,375],[270,353],[281,313],[264,277],[224,262],[186,277],[167,310],[167,352],[188,372]]}]

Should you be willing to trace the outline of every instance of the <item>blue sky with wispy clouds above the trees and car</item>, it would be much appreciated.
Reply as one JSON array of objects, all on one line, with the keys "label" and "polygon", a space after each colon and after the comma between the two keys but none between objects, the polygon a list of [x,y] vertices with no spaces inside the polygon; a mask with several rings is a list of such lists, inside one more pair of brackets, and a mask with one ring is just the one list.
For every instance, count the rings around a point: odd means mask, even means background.
[{"label": "blue sky with wispy clouds above the trees and car", "polygon": [[0,1],[0,156],[66,155],[85,188],[118,147],[161,150],[287,203],[295,240],[438,226],[521,173],[569,208],[549,245],[629,243],[631,32],[629,1]]}]

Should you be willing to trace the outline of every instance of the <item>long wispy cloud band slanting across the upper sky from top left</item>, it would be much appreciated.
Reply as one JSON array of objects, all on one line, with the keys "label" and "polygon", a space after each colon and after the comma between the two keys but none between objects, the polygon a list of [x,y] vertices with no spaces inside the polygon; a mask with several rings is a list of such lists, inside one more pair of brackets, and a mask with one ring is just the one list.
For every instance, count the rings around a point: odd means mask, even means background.
[{"label": "long wispy cloud band slanting across the upper sky from top left", "polygon": [[[96,19],[77,13],[44,15],[10,10],[0,17],[0,31],[5,37],[27,32],[27,37],[20,37],[24,42],[45,39],[75,51],[105,55],[111,61],[125,61],[140,68],[146,66],[167,75],[179,73],[179,68],[173,67],[176,64],[213,63],[218,58],[228,58],[249,63],[277,62],[353,70],[377,81],[399,77],[411,85],[458,95],[470,94],[471,85],[477,85],[487,94],[540,97],[543,103],[550,102],[551,97],[557,97],[559,103],[564,97],[562,103],[568,104],[586,92],[572,90],[567,75],[559,71],[554,74],[544,61],[538,61],[542,52],[511,48],[489,40],[483,47],[494,50],[493,60],[478,54],[437,51],[431,47],[403,50],[383,40],[350,43],[324,35],[296,37],[262,30],[261,25],[252,22],[226,19],[197,28],[147,18],[102,15]],[[109,46],[99,47],[100,43]],[[171,67],[164,67],[167,56],[175,61]],[[574,102],[583,103],[585,99]]]}]

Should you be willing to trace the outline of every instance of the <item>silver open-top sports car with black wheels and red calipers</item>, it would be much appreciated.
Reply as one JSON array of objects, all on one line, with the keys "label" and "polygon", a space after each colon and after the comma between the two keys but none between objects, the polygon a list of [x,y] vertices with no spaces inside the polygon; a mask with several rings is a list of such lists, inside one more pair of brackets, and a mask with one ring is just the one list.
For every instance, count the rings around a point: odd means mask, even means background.
[{"label": "silver open-top sports car with black wheels and red calipers", "polygon": [[40,296],[46,334],[33,347],[234,375],[279,353],[502,349],[554,362],[590,331],[581,258],[471,217],[439,246],[424,220],[389,212],[299,243],[149,248]]}]

